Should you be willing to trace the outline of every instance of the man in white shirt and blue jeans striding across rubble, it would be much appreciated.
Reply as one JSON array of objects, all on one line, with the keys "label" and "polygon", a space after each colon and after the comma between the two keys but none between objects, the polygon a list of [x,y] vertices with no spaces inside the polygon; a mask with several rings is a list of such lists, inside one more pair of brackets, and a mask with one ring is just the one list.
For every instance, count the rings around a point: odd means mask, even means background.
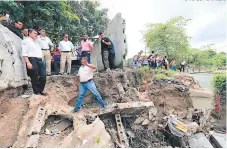
[{"label": "man in white shirt and blue jeans striding across rubble", "polygon": [[89,90],[92,94],[94,94],[98,103],[103,107],[106,108],[106,104],[103,101],[101,95],[99,94],[95,83],[93,81],[93,73],[96,69],[96,66],[93,64],[88,64],[87,57],[84,56],[81,59],[82,66],[79,69],[78,76],[80,77],[80,89],[79,95],[77,98],[77,102],[75,104],[75,108],[72,112],[78,112],[84,100],[84,96],[86,95],[87,90]]}]

